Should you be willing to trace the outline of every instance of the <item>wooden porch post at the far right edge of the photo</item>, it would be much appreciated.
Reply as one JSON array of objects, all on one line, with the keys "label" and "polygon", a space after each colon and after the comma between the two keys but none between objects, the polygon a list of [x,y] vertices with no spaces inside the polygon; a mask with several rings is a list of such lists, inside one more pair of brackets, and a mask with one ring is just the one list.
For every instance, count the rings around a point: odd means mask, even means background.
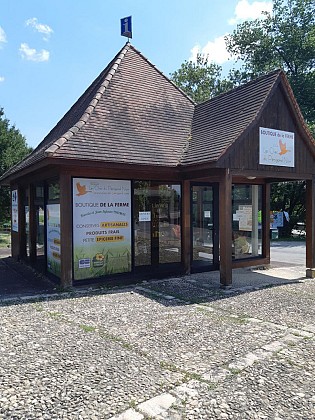
[{"label": "wooden porch post at the far right edge of the photo", "polygon": [[315,278],[315,177],[306,181],[306,277]]}]

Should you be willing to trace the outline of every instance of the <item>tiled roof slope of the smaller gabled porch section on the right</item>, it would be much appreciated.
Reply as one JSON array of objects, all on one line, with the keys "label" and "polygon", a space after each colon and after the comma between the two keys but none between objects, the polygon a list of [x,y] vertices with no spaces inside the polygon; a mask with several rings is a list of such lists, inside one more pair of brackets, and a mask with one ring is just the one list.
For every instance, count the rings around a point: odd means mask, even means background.
[{"label": "tiled roof slope of the smaller gabled porch section on the right", "polygon": [[182,165],[218,160],[261,112],[280,74],[274,71],[196,105]]}]

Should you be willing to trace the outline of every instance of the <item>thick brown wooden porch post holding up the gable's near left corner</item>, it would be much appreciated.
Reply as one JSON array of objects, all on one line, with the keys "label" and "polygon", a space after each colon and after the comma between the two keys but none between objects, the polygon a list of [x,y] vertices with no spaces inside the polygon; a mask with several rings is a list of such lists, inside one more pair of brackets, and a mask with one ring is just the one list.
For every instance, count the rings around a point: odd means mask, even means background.
[{"label": "thick brown wooden porch post holding up the gable's near left corner", "polygon": [[226,169],[219,186],[220,283],[222,288],[232,284],[232,176]]}]

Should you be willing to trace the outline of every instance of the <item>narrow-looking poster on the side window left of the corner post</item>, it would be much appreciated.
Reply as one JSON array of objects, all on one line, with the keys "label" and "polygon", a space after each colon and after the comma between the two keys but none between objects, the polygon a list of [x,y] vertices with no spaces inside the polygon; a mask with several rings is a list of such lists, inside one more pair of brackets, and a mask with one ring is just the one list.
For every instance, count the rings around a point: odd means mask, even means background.
[{"label": "narrow-looking poster on the side window left of the corner post", "polygon": [[60,277],[60,204],[47,204],[47,270]]}]

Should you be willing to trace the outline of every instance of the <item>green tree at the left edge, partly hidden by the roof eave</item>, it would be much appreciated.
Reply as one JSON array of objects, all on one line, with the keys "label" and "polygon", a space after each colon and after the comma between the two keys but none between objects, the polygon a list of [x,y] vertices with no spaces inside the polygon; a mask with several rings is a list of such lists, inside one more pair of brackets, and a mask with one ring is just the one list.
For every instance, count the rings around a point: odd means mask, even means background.
[{"label": "green tree at the left edge, partly hidden by the roof eave", "polygon": [[[0,176],[32,151],[25,137],[5,117],[0,108]],[[10,189],[0,188],[0,223],[10,220]]]}]

